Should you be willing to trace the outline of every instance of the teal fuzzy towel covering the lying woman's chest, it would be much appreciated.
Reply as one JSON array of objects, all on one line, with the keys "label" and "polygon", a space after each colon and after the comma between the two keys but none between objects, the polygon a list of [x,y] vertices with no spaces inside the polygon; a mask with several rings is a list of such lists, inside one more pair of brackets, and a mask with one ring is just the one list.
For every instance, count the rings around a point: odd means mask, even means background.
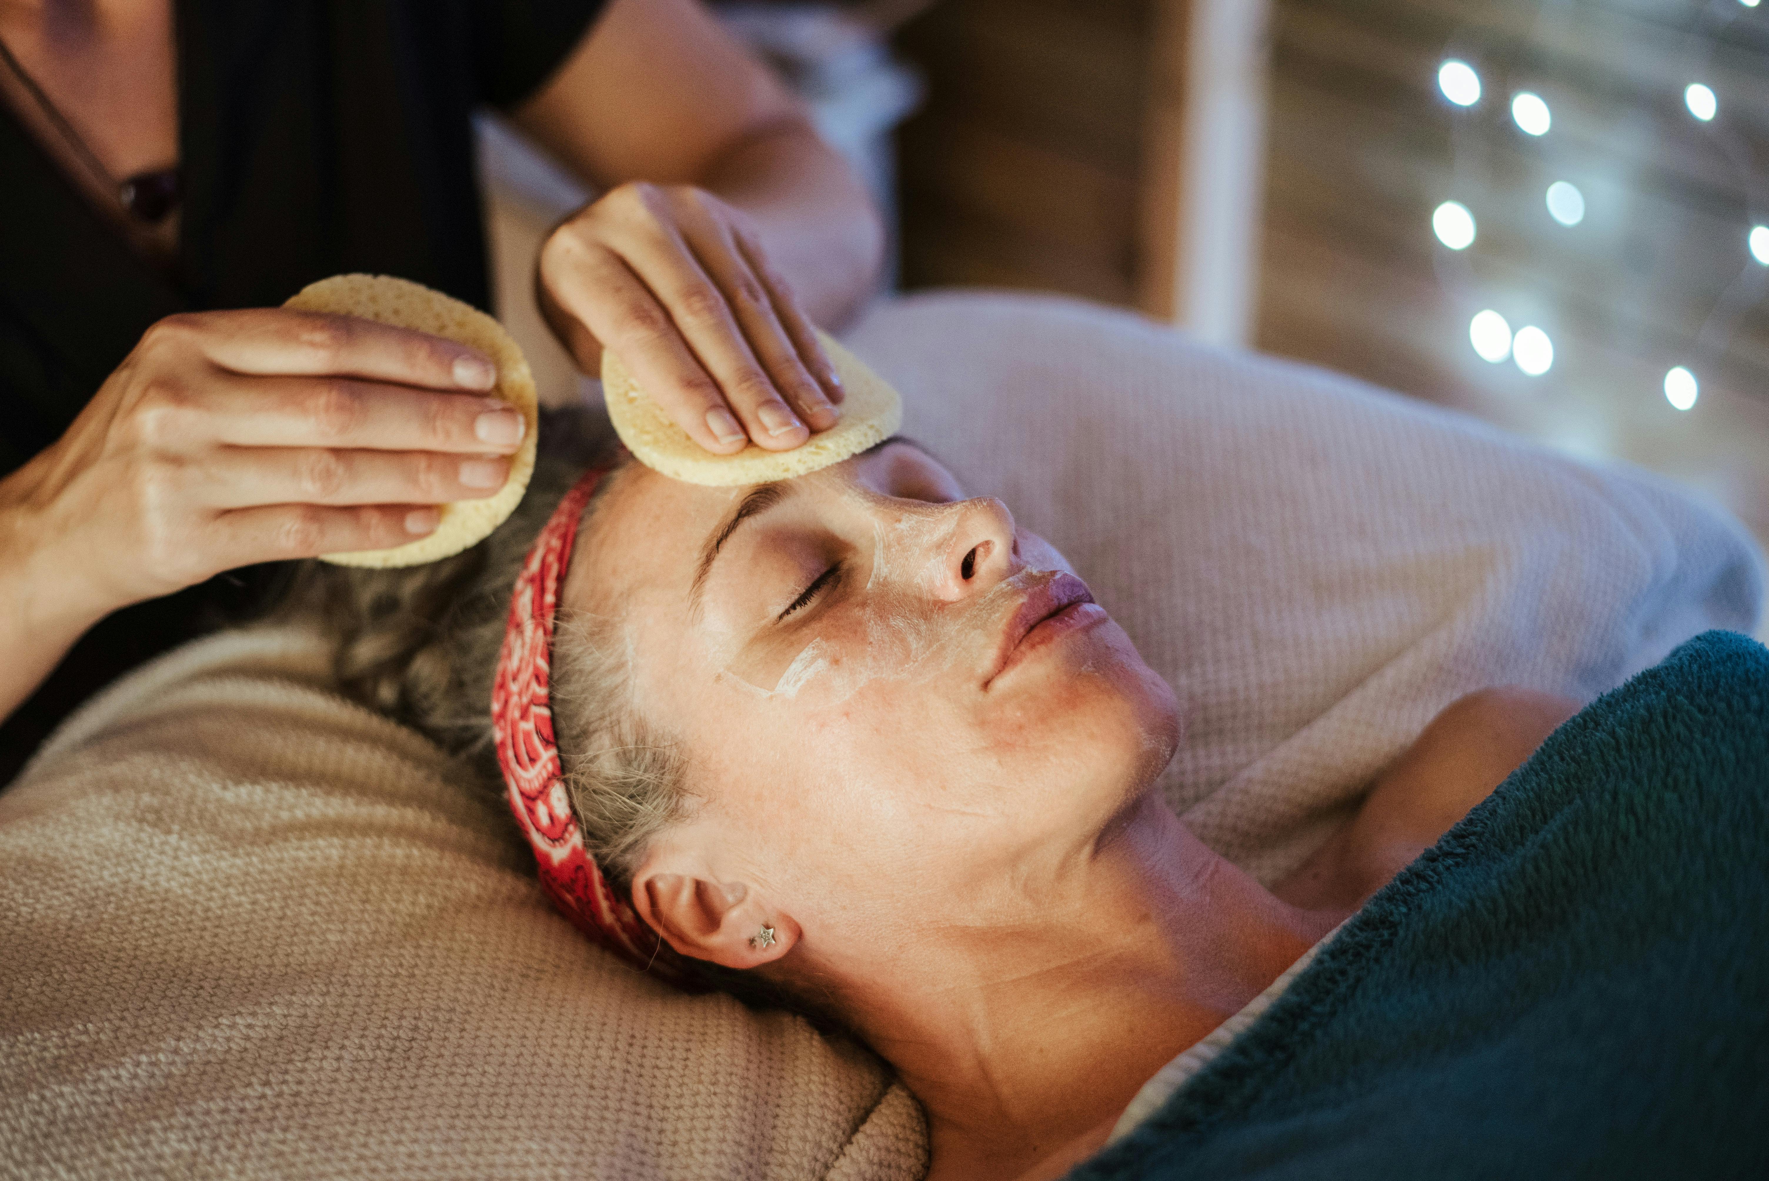
[{"label": "teal fuzzy towel covering the lying woman's chest", "polygon": [[1769,652],[1567,721],[1068,1176],[1769,1177]]}]

